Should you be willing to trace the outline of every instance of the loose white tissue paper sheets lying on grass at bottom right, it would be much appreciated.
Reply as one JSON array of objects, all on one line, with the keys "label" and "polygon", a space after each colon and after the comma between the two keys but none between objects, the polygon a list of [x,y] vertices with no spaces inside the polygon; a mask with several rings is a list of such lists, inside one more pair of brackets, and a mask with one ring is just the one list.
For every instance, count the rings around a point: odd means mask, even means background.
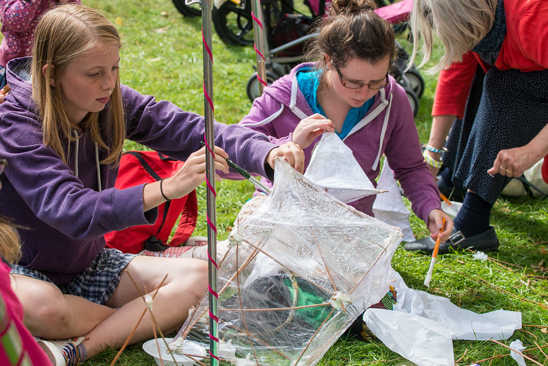
[{"label": "loose white tissue paper sheets lying on grass at bottom right", "polygon": [[409,289],[396,271],[392,278],[397,301],[394,310],[370,314],[373,309],[368,309],[364,321],[390,350],[418,366],[453,366],[453,347],[447,345],[450,339],[508,339],[521,328],[519,312],[495,310],[477,314],[459,308],[446,297]]}]

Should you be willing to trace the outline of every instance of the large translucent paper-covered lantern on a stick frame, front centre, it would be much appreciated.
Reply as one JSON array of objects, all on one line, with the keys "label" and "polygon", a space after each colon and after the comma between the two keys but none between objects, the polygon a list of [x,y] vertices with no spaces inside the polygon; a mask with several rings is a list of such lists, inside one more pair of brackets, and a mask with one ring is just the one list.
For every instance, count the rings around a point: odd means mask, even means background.
[{"label": "large translucent paper-covered lantern on a stick frame, front centre", "polygon": [[[234,365],[315,365],[388,291],[402,239],[287,162],[276,160],[275,175],[270,195],[241,208],[218,262],[219,355]],[[209,348],[208,310],[204,293],[179,342]]]}]

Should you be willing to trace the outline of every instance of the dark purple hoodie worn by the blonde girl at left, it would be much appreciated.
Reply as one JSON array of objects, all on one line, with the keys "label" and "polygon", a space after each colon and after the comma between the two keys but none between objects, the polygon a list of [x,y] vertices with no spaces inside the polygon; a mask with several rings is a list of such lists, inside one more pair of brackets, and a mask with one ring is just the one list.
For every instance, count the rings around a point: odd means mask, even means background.
[{"label": "dark purple hoodie worn by the blonde girl at left", "polygon": [[[31,85],[20,76],[28,72],[30,61],[8,62],[12,93],[0,105],[0,157],[8,160],[0,178],[0,212],[29,228],[19,230],[23,243],[19,264],[64,284],[101,252],[103,234],[154,223],[158,210],[143,213],[143,184],[113,188],[118,169],[100,164],[98,171],[95,144],[88,133],[78,132],[78,141],[66,144],[68,164],[44,145]],[[202,147],[204,117],[127,86],[121,92],[128,139],[179,160]],[[105,119],[106,113],[101,112],[99,121]],[[272,177],[265,159],[275,145],[263,134],[240,125],[215,123],[215,145],[243,169]],[[106,151],[99,150],[99,160],[105,157]]]}]

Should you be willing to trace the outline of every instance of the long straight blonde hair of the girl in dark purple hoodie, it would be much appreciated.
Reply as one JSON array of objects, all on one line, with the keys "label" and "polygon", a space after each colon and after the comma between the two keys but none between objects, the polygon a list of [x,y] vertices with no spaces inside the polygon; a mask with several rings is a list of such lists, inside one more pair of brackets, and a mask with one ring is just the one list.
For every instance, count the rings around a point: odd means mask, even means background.
[{"label": "long straight blonde hair of the girl in dark purple hoodie", "polygon": [[[121,48],[117,29],[108,19],[92,8],[78,4],[59,5],[43,14],[36,27],[32,60],[32,97],[42,119],[43,141],[67,162],[62,141],[71,141],[71,123],[64,110],[60,88],[49,84],[51,67],[42,73],[44,65],[54,65],[55,85],[75,58],[97,45]],[[126,137],[126,123],[120,93],[120,80],[108,103],[108,117],[99,125],[99,113],[90,112],[83,128],[91,134],[99,149],[108,151],[102,163],[118,162]]]}]

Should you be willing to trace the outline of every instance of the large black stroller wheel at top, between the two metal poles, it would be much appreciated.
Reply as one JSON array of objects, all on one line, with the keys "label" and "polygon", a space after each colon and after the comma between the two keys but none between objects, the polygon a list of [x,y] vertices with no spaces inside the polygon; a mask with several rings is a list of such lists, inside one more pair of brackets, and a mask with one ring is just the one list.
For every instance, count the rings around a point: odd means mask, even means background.
[{"label": "large black stroller wheel at top, between the two metal poles", "polygon": [[218,9],[211,10],[213,26],[219,38],[227,45],[246,46],[253,44],[253,19],[251,3],[241,0],[239,5],[225,1]]}]

